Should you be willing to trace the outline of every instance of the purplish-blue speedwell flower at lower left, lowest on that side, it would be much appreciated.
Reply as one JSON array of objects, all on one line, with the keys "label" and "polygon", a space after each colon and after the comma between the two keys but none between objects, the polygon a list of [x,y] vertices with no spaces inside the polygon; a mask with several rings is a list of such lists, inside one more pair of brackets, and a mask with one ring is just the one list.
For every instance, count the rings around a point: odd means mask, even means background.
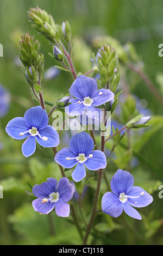
[{"label": "purplish-blue speedwell flower at lower left, lowest on that side", "polygon": [[32,202],[35,211],[41,214],[48,214],[53,209],[60,217],[68,217],[70,215],[70,205],[68,202],[72,199],[74,193],[73,184],[64,177],[58,181],[54,178],[48,178],[41,185],[33,187],[33,194],[37,197]]}]

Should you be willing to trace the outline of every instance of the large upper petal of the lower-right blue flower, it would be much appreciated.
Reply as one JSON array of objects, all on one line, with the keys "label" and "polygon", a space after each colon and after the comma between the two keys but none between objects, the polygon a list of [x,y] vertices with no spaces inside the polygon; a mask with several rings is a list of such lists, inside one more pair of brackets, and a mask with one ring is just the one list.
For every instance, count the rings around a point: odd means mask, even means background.
[{"label": "large upper petal of the lower-right blue flower", "polygon": [[111,179],[110,186],[112,192],[120,196],[120,193],[127,194],[134,185],[134,177],[126,170],[118,169]]}]

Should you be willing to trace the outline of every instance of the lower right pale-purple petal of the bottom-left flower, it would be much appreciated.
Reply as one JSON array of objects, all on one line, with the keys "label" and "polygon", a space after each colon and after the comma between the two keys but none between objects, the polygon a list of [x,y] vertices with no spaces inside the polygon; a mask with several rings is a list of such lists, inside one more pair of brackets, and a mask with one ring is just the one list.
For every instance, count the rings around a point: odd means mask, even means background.
[{"label": "lower right pale-purple petal of the bottom-left flower", "polygon": [[62,200],[58,200],[55,203],[55,213],[59,217],[68,217],[70,215],[70,205]]}]

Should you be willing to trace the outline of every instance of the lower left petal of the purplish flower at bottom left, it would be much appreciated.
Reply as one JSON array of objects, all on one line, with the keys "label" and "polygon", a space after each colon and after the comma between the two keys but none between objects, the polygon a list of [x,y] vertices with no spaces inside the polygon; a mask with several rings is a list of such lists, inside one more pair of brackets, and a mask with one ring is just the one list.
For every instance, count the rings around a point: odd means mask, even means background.
[{"label": "lower left petal of the purplish flower at bottom left", "polygon": [[37,198],[32,202],[34,211],[41,212],[41,214],[48,214],[54,209],[54,203],[41,203],[43,198]]}]

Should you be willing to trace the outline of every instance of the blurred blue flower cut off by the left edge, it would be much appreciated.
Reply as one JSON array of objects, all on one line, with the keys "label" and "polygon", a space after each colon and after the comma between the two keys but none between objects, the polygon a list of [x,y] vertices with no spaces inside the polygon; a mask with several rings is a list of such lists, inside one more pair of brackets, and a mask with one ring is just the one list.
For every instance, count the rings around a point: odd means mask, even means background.
[{"label": "blurred blue flower cut off by the left edge", "polygon": [[4,117],[8,113],[10,104],[10,94],[0,84],[0,118]]}]

